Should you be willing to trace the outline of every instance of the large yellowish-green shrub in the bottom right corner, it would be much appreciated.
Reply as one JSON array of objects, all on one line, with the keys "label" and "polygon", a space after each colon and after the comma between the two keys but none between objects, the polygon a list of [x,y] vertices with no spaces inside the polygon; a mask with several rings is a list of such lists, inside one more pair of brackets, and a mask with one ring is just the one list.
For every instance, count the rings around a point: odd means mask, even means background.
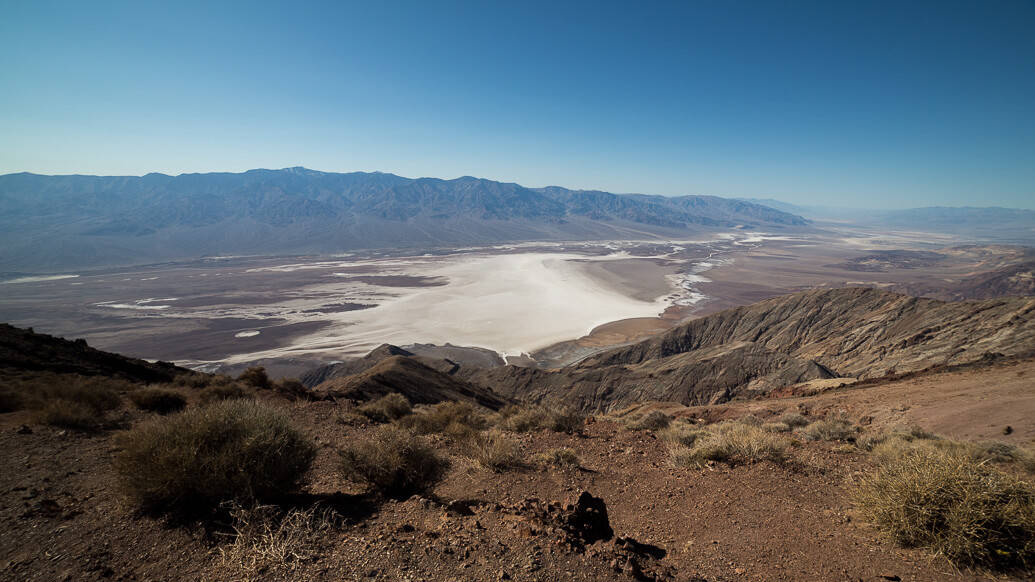
[{"label": "large yellowish-green shrub in the bottom right corner", "polygon": [[960,565],[1035,562],[1035,490],[959,450],[918,446],[860,483],[862,514],[905,547]]}]

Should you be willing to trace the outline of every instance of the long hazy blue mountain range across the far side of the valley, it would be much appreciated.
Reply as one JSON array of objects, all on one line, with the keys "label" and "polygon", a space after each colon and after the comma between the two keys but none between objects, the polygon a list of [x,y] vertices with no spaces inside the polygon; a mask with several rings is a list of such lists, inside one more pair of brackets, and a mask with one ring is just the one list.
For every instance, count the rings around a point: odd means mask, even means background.
[{"label": "long hazy blue mountain range across the far side of the valley", "polygon": [[219,254],[319,253],[520,240],[679,237],[804,227],[712,196],[530,188],[305,168],[145,176],[0,176],[0,271]]}]

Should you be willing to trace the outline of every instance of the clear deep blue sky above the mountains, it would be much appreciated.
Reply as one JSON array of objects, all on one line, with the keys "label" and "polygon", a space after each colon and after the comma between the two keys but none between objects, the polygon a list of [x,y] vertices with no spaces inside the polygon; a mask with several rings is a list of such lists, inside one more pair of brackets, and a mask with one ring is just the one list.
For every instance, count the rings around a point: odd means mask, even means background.
[{"label": "clear deep blue sky above the mountains", "polygon": [[1035,1],[0,0],[0,173],[1035,208]]}]

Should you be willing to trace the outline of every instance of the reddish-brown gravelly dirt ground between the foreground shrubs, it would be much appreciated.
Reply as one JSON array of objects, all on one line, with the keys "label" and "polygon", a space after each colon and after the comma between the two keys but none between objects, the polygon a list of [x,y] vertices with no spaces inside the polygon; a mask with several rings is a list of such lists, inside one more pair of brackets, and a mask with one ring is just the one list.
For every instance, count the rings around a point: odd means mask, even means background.
[{"label": "reddish-brown gravelly dirt ground between the foreground shrubs", "polygon": [[[1026,443],[1035,436],[1033,375],[1035,362],[1023,361],[690,412],[844,412],[869,430],[910,424]],[[319,503],[344,519],[304,541],[304,559],[235,570],[219,558],[231,540],[226,527],[137,514],[116,487],[112,459],[114,436],[144,413],[123,410],[115,428],[96,434],[29,432],[23,413],[8,413],[0,414],[0,579],[632,580],[641,570],[686,581],[1011,579],[958,572],[860,523],[853,483],[873,466],[851,447],[802,442],[781,465],[676,468],[651,433],[596,419],[582,436],[509,435],[526,459],[571,447],[578,467],[494,473],[438,437],[453,461],[445,481],[423,497],[384,501],[335,470],[336,450],[371,427],[341,424],[329,402],[280,405],[320,445],[312,483],[290,503]],[[1010,435],[1002,434],[1006,425]],[[528,510],[529,498],[564,503],[583,490],[607,503],[615,535],[637,544],[570,544]]]}]

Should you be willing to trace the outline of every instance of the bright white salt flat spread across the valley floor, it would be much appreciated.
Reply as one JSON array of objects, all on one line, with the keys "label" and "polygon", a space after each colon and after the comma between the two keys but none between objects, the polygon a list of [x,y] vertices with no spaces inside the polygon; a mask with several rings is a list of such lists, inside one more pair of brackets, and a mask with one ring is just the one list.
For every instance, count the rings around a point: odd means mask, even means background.
[{"label": "bright white salt flat spread across the valley floor", "polygon": [[[460,255],[392,265],[409,275],[440,278],[435,287],[396,288],[372,309],[324,314],[333,325],[290,346],[242,353],[227,363],[327,352],[358,355],[382,343],[483,347],[504,355],[528,353],[578,338],[593,327],[651,317],[668,307],[668,291],[653,300],[631,297],[584,267],[587,257],[563,253]],[[323,286],[333,293],[335,284]],[[343,287],[349,282],[343,282]],[[344,291],[344,289],[343,289]]]}]

